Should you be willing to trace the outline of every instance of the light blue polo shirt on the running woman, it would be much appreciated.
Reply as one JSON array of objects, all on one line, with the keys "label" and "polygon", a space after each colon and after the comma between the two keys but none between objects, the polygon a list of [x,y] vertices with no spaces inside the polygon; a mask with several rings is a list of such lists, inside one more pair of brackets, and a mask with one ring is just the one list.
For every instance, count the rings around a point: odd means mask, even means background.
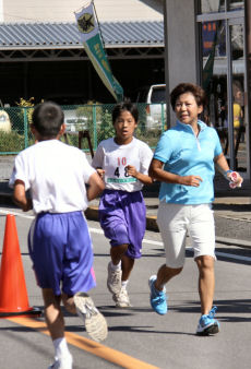
[{"label": "light blue polo shirt on the running woman", "polygon": [[223,150],[216,130],[198,121],[200,133],[195,136],[190,124],[177,120],[164,132],[154,158],[164,163],[164,169],[179,176],[200,176],[199,187],[162,182],[159,200],[176,204],[203,204],[214,200],[214,157]]}]

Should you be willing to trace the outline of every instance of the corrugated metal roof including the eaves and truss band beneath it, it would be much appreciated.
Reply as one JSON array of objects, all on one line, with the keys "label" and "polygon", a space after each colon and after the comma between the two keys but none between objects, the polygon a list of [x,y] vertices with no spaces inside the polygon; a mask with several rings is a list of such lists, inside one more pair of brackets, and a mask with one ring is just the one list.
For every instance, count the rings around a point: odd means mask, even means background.
[{"label": "corrugated metal roof including the eaves and truss band beneath it", "polygon": [[[163,59],[163,22],[100,24],[109,59]],[[0,62],[88,60],[75,23],[0,24]]]}]

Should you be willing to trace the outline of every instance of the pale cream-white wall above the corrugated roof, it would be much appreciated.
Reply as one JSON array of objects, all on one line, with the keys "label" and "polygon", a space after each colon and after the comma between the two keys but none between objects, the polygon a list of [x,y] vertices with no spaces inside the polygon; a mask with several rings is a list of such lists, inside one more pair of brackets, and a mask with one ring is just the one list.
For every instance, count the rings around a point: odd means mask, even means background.
[{"label": "pale cream-white wall above the corrugated roof", "polygon": [[[74,11],[83,0],[0,0],[4,22],[74,22]],[[147,4],[148,3],[148,4]],[[95,0],[99,22],[162,21],[162,3],[156,0]],[[150,5],[152,4],[152,7]]]}]

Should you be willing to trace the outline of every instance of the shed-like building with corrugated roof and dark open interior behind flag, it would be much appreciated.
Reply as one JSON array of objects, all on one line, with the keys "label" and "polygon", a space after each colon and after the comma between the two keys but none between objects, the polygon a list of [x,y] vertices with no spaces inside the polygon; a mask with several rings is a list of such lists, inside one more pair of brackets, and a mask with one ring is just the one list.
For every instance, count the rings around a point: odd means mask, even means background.
[{"label": "shed-like building with corrugated roof and dark open interior behind flag", "polygon": [[[0,98],[53,98],[60,104],[112,103],[80,43],[81,0],[0,0]],[[163,83],[160,0],[95,0],[106,51],[127,96]],[[14,86],[14,88],[13,88]]]}]

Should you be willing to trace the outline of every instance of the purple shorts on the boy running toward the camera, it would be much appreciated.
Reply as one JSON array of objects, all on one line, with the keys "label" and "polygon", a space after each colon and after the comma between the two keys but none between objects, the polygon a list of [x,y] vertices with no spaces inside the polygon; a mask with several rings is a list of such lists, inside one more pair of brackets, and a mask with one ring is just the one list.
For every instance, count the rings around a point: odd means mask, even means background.
[{"label": "purple shorts on the boy running toward the camera", "polygon": [[99,222],[111,247],[129,245],[127,255],[141,258],[145,234],[145,203],[141,191],[105,190],[99,203]]}]

